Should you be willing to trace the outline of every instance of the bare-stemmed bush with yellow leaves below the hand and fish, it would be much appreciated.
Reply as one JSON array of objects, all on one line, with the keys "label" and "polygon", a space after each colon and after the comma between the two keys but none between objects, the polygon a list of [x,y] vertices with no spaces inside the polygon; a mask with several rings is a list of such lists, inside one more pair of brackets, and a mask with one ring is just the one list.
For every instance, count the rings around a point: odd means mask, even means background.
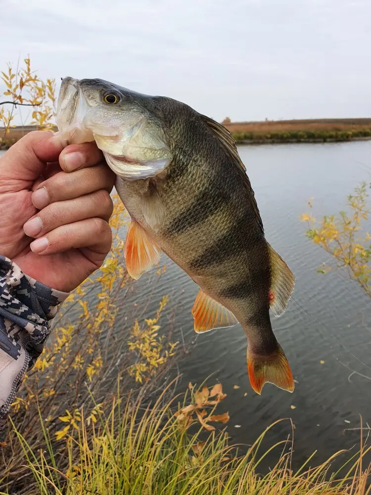
[{"label": "bare-stemmed bush with yellow leaves below the hand and fish", "polygon": [[[160,379],[161,387],[166,386],[162,379],[165,375],[170,379],[175,364],[177,344],[160,334],[159,325],[168,297],[142,321],[135,315],[133,323],[116,318],[131,279],[122,239],[129,219],[120,198],[114,195],[113,201],[112,249],[103,266],[60,306],[44,352],[25,377],[10,411],[14,427],[34,452],[59,451],[58,468],[68,462],[68,435],[81,427],[83,417],[87,427],[96,422],[115,394],[118,376],[123,393],[140,391],[149,399]],[[155,272],[154,279],[163,272],[162,268]],[[21,494],[27,488],[24,450],[11,432],[1,448],[0,491],[11,487]]]}]

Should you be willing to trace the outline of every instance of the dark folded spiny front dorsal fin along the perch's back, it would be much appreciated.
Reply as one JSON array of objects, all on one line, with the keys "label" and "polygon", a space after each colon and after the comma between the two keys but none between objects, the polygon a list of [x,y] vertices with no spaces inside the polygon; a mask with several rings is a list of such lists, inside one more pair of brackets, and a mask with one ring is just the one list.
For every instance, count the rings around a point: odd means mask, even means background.
[{"label": "dark folded spiny front dorsal fin along the perch's back", "polygon": [[256,203],[256,199],[254,196],[254,191],[252,190],[250,179],[247,177],[246,174],[246,167],[242,163],[241,158],[239,157],[237,148],[236,148],[236,142],[232,137],[232,134],[230,131],[224,127],[224,125],[219,124],[215,120],[211,119],[210,117],[207,117],[206,115],[201,115],[201,119],[205,124],[211,129],[214,133],[214,135],[218,138],[220,144],[223,146],[224,150],[226,153],[231,156],[232,158],[232,163],[235,166],[236,172],[240,175],[243,185],[245,186],[245,189],[247,191],[247,194],[250,198],[251,205],[253,207],[256,220],[262,229],[262,233],[264,233],[264,228],[263,228],[263,221],[261,219],[260,213],[259,213],[259,208]]}]

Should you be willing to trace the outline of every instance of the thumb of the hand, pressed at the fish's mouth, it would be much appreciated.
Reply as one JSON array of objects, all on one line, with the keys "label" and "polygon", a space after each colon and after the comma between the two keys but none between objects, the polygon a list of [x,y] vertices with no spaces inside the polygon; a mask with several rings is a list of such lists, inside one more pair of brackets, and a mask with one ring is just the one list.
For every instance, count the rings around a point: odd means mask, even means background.
[{"label": "thumb of the hand, pressed at the fish's mouth", "polygon": [[58,161],[62,151],[60,137],[48,131],[32,131],[0,159],[0,181],[34,181],[42,175],[47,162]]}]

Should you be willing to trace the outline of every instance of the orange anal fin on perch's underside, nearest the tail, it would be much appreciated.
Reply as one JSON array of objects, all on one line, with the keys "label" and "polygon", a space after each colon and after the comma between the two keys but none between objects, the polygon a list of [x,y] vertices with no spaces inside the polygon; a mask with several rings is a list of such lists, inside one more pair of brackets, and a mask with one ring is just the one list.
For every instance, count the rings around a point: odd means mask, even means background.
[{"label": "orange anal fin on perch's underside, nearest the tail", "polygon": [[219,302],[207,296],[202,290],[198,293],[193,307],[194,331],[208,332],[213,328],[232,327],[238,323],[235,316]]}]

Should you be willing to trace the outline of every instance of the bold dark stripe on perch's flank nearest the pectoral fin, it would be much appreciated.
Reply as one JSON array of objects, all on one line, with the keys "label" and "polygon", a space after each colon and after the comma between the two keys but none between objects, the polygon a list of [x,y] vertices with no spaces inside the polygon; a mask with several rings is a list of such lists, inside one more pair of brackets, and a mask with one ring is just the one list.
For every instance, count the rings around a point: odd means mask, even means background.
[{"label": "bold dark stripe on perch's flank nearest the pectoral fin", "polygon": [[170,235],[181,234],[194,225],[206,220],[221,206],[228,202],[228,198],[220,193],[218,194],[218,200],[216,200],[215,196],[215,191],[213,191],[212,188],[201,191],[194,198],[193,203],[171,221],[169,227],[167,228],[167,232]]}]

